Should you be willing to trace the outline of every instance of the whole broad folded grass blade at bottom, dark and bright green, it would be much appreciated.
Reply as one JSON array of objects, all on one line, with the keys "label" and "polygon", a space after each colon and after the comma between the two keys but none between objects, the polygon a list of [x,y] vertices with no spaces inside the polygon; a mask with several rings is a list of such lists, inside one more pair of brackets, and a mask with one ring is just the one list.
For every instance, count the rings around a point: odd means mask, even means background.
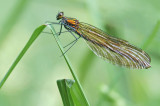
[{"label": "whole broad folded grass blade at bottom, dark and bright green", "polygon": [[86,106],[85,102],[81,100],[79,88],[74,80],[62,79],[57,81],[58,89],[64,106]]}]

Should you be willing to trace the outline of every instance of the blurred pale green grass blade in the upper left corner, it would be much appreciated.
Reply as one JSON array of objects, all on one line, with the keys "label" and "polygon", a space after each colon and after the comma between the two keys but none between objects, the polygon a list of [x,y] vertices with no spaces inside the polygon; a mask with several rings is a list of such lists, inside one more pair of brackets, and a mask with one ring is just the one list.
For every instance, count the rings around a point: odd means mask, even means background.
[{"label": "blurred pale green grass blade in the upper left corner", "polygon": [[5,37],[7,37],[10,30],[17,23],[19,17],[23,13],[25,7],[27,6],[30,0],[20,0],[15,5],[15,8],[10,12],[11,14],[8,16],[4,25],[2,26],[2,30],[0,31],[0,45],[3,43]]}]

